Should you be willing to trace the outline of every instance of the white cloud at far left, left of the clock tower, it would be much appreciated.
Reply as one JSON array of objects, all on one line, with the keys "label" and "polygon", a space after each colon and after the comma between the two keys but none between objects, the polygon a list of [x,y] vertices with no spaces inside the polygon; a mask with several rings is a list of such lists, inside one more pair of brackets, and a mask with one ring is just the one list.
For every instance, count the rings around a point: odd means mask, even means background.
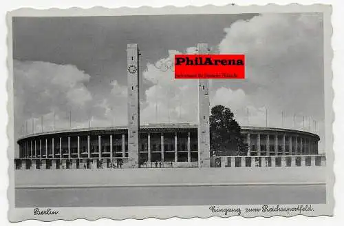
[{"label": "white cloud at far left, left of the clock tower", "polygon": [[43,131],[66,127],[71,110],[72,119],[87,118],[87,103],[93,99],[85,86],[90,76],[74,65],[14,60],[13,72],[16,135],[21,127],[22,132],[41,132],[42,117]]}]

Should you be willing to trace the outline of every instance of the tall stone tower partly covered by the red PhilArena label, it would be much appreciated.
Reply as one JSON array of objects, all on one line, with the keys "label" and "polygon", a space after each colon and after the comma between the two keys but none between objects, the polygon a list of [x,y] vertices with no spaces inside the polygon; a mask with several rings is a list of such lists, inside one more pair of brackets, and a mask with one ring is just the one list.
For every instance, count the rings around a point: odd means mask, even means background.
[{"label": "tall stone tower partly covered by the red PhilArena label", "polygon": [[[198,54],[208,54],[208,44],[197,44]],[[198,167],[210,167],[209,79],[198,79]]]}]

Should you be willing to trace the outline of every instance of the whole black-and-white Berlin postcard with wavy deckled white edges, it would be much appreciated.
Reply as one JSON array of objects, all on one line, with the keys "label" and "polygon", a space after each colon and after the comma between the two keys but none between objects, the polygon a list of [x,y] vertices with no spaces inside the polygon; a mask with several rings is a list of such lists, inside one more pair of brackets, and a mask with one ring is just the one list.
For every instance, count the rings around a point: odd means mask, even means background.
[{"label": "whole black-and-white Berlin postcard with wavy deckled white edges", "polygon": [[331,12],[8,12],[9,220],[332,216]]}]

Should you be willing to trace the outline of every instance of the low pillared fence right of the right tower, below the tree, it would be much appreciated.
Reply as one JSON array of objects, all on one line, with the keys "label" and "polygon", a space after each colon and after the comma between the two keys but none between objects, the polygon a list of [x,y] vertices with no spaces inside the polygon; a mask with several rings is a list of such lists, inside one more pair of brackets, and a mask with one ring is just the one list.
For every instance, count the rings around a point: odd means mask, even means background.
[{"label": "low pillared fence right of the right tower, below the tree", "polygon": [[325,155],[212,156],[211,167],[303,167],[325,166]]}]

